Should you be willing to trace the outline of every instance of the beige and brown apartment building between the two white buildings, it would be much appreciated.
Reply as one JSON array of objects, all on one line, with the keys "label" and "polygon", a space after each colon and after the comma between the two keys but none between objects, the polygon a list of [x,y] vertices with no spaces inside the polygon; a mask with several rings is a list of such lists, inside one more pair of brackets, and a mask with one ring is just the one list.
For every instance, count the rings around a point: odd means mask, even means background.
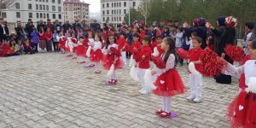
[{"label": "beige and brown apartment building between the two white buildings", "polygon": [[74,20],[85,20],[89,23],[89,5],[79,0],[64,1],[64,20],[74,22]]}]

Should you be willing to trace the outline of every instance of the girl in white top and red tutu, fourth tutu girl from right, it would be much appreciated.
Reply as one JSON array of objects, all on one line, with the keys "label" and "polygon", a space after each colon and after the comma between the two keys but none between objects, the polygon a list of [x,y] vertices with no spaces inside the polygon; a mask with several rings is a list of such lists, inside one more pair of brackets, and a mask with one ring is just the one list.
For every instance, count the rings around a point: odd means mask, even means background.
[{"label": "girl in white top and red tutu, fourth tutu girl from right", "polygon": [[102,60],[102,37],[98,34],[95,35],[95,41],[92,46],[90,55],[90,61],[96,65],[96,71],[94,73],[102,73],[100,61]]}]

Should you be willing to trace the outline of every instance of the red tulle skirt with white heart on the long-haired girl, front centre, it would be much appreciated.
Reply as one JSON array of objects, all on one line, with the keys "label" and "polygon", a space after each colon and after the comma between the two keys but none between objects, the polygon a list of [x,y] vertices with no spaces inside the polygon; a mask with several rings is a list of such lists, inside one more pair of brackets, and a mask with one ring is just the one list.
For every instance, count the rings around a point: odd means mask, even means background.
[{"label": "red tulle skirt with white heart on the long-haired girl, front centre", "polygon": [[157,89],[154,90],[154,94],[157,96],[175,96],[186,91],[183,81],[175,69],[162,73],[154,84],[157,86]]}]

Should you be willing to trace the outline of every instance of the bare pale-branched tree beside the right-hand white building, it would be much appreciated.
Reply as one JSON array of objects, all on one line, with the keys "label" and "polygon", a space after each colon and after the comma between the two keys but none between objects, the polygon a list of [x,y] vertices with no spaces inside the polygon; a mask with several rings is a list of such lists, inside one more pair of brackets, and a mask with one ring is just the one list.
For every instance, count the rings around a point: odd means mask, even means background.
[{"label": "bare pale-branched tree beside the right-hand white building", "polygon": [[145,25],[147,25],[148,16],[151,12],[151,3],[153,0],[142,0],[138,7],[138,11],[141,15],[143,15],[143,18],[145,20]]}]

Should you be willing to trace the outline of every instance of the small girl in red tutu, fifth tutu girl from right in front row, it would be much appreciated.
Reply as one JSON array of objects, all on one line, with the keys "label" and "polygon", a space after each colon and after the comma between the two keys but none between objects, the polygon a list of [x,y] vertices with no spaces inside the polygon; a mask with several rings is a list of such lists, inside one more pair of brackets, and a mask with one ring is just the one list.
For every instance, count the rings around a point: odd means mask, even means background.
[{"label": "small girl in red tutu, fifth tutu girl from right in front row", "polygon": [[88,40],[84,39],[83,37],[79,38],[78,47],[76,48],[75,52],[78,55],[78,62],[79,64],[85,63],[84,59],[86,57],[86,49],[88,48]]}]

